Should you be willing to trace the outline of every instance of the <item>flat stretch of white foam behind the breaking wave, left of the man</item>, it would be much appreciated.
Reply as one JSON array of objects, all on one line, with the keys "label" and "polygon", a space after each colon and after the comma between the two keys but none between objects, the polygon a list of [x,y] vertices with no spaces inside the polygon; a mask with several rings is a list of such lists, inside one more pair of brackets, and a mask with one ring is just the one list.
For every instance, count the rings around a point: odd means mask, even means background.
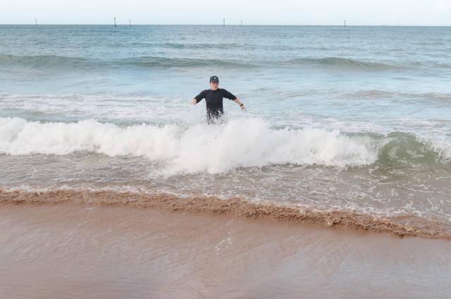
[{"label": "flat stretch of white foam behind the breaking wave, left of the man", "polygon": [[[192,108],[189,104],[190,100],[190,98],[182,97],[136,95],[0,93],[0,111],[12,109],[20,111],[20,115],[25,118],[40,114],[47,119],[58,119],[58,121],[97,118],[113,123],[121,121],[161,123],[177,117],[179,121],[192,123],[199,119],[199,116],[205,117],[205,111],[190,109]],[[197,114],[193,116],[193,112]]]}]

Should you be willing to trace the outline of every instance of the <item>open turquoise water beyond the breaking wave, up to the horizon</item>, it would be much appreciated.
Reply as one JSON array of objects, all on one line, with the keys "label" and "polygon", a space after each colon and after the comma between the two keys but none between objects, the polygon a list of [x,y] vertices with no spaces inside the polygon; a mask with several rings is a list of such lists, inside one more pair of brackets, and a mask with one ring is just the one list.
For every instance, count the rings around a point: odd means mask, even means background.
[{"label": "open turquoise water beyond the breaking wave, up to the horizon", "polygon": [[[418,122],[450,115],[450,28],[3,25],[0,37],[4,99],[152,97],[156,106],[177,106],[159,120],[168,121],[216,74],[222,87],[246,101],[250,115],[276,126],[314,118],[322,125],[414,130],[423,126]],[[230,106],[226,111],[235,114]],[[35,112],[4,109],[1,116]],[[69,121],[70,111],[61,110],[56,118]]]}]

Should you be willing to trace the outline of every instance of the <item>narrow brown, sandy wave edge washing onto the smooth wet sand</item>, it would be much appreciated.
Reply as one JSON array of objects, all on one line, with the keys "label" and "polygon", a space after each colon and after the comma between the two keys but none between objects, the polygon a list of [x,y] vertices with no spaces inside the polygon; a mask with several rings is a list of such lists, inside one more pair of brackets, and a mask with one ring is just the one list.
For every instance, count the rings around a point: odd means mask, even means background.
[{"label": "narrow brown, sandy wave edge washing onto the smooth wet sand", "polygon": [[[276,219],[281,222],[339,226],[355,231],[390,233],[395,236],[419,236],[451,240],[445,224],[433,224],[412,216],[376,217],[348,210],[319,210],[278,205],[273,202],[248,202],[239,197],[222,200],[218,197],[176,197],[164,193],[131,193],[111,190],[50,190],[44,192],[5,191],[0,189],[0,204],[62,204],[125,206],[156,208],[194,214],[224,214],[237,219]],[[417,224],[412,224],[412,219]],[[440,226],[441,225],[441,226]],[[448,225],[449,226],[449,225]]]}]

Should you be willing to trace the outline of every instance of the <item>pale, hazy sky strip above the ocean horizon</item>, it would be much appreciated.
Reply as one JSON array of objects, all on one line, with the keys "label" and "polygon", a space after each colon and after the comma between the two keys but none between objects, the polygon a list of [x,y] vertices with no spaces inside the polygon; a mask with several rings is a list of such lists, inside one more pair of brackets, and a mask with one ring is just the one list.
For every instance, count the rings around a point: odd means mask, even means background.
[{"label": "pale, hazy sky strip above the ocean horizon", "polygon": [[0,24],[445,25],[451,0],[0,0]]}]

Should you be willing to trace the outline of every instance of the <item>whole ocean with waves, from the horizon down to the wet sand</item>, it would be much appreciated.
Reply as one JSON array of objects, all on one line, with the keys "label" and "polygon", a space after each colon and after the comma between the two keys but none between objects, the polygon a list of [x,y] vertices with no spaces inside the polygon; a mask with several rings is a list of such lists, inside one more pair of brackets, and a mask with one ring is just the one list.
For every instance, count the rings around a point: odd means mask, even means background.
[{"label": "whole ocean with waves, from the horizon down to the wet sand", "polygon": [[[451,238],[451,28],[0,25],[0,41],[3,201],[238,198]],[[247,108],[224,99],[215,126],[189,104],[211,75]]]}]

